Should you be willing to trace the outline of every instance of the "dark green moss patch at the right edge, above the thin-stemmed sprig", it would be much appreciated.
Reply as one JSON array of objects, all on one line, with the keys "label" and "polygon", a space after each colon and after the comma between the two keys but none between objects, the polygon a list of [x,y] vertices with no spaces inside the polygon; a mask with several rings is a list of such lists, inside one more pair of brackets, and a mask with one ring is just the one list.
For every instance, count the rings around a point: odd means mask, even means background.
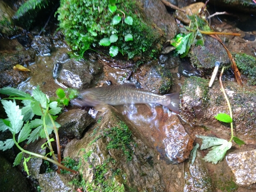
[{"label": "dark green moss patch at the right edge, above the thin-stemmed sprig", "polygon": [[237,63],[241,73],[248,76],[248,83],[252,86],[256,85],[256,58],[245,53],[238,53],[234,60]]}]

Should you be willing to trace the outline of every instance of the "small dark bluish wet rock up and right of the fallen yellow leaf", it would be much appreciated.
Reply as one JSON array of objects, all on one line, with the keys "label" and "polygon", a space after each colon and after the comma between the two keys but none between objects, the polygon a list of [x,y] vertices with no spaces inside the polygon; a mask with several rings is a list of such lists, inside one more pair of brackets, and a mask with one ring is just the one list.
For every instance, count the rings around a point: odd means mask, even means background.
[{"label": "small dark bluish wet rock up and right of the fallen yellow leaf", "polygon": [[51,54],[51,39],[46,36],[34,37],[31,47],[37,52],[40,56],[49,56]]}]

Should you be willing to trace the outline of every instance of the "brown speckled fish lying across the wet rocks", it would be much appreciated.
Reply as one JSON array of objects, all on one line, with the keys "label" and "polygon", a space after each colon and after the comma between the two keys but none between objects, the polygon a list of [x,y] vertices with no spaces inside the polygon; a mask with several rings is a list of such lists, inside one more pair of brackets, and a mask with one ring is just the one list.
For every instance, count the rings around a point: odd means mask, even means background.
[{"label": "brown speckled fish lying across the wet rocks", "polygon": [[[77,106],[93,106],[99,109],[105,104],[148,104],[157,103],[167,107],[177,114],[180,112],[180,94],[172,93],[160,95],[143,89],[137,89],[131,84],[118,86],[103,86],[80,91],[78,96],[71,102]],[[97,110],[99,111],[99,110]]]}]

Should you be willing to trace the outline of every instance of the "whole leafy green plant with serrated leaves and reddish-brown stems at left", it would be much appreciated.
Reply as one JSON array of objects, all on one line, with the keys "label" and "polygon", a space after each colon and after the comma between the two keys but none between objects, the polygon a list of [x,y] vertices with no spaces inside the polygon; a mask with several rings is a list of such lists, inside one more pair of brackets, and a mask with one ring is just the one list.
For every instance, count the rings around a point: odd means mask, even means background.
[{"label": "whole leafy green plant with serrated leaves and reddish-brown stems at left", "polygon": [[[23,158],[24,168],[29,175],[27,162],[31,158],[37,157],[58,165],[58,172],[59,167],[61,167],[76,173],[75,170],[69,169],[60,164],[60,146],[57,130],[60,125],[55,122],[55,119],[57,118],[56,115],[61,112],[61,108],[57,106],[57,101],[50,101],[48,96],[39,90],[39,87],[32,91],[33,96],[14,88],[3,88],[0,90],[0,93],[10,95],[8,99],[11,99],[1,100],[8,118],[0,119],[0,131],[4,132],[9,130],[12,133],[11,139],[0,141],[0,150],[5,151],[13,147],[13,145],[16,145],[21,151],[16,156],[13,165],[18,165]],[[20,109],[19,105],[16,105],[15,99],[22,100],[21,102],[24,105],[23,108]],[[40,118],[33,119],[35,115]],[[49,136],[52,132],[55,134],[58,160],[55,157],[51,144],[54,139]],[[45,156],[29,152],[20,146],[23,141],[27,140],[27,144],[29,144],[39,137],[47,138],[46,143],[41,145],[42,150],[46,147],[50,150],[50,153]],[[24,154],[28,154],[29,157],[25,157]]]}]

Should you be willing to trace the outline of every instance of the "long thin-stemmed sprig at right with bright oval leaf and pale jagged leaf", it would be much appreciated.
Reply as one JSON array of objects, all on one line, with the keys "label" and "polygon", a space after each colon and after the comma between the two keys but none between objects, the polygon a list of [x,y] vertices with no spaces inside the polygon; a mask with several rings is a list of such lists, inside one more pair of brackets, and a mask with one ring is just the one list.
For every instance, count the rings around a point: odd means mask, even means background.
[{"label": "long thin-stemmed sprig at right with bright oval leaf and pale jagged leaf", "polygon": [[204,160],[207,162],[212,162],[214,164],[217,164],[219,161],[221,161],[226,152],[231,148],[232,146],[232,140],[236,142],[238,145],[244,144],[244,141],[239,139],[238,137],[234,137],[233,135],[233,119],[232,119],[232,109],[231,105],[229,102],[229,99],[225,93],[225,89],[223,87],[222,83],[222,74],[224,72],[225,67],[222,68],[221,74],[220,74],[220,84],[221,84],[221,91],[224,94],[224,97],[226,99],[228,109],[229,109],[229,114],[225,113],[219,113],[215,118],[219,121],[225,122],[225,123],[230,123],[230,128],[231,128],[231,138],[229,141],[221,138],[216,138],[216,137],[207,137],[207,136],[199,136],[196,135],[198,138],[202,139],[202,145],[201,145],[201,150],[205,150],[206,148],[211,147],[211,150],[209,153],[204,157]]}]

